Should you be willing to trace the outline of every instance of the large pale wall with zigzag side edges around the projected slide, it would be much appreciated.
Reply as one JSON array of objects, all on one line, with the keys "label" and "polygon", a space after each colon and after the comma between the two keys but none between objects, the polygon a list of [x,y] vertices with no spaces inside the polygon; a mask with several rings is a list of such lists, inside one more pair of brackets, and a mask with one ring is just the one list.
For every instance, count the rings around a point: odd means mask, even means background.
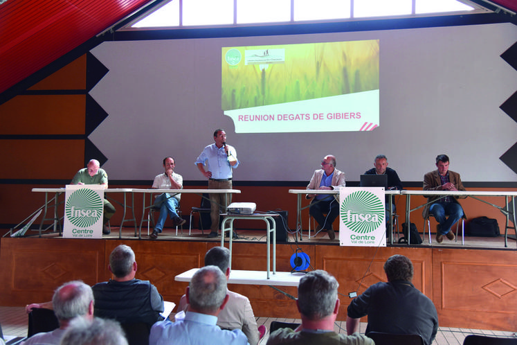
[{"label": "large pale wall with zigzag side edges around the projected slide", "polygon": [[[221,47],[380,39],[381,124],[372,132],[236,134],[221,111]],[[109,117],[90,139],[110,179],[152,179],[166,155],[200,180],[194,160],[224,127],[240,181],[306,181],[325,154],[348,180],[386,154],[403,181],[421,181],[437,154],[468,182],[516,182],[499,157],[517,123],[499,106],[517,90],[500,54],[517,26],[488,24],[317,35],[105,42],[91,53],[109,73],[91,96]]]}]

